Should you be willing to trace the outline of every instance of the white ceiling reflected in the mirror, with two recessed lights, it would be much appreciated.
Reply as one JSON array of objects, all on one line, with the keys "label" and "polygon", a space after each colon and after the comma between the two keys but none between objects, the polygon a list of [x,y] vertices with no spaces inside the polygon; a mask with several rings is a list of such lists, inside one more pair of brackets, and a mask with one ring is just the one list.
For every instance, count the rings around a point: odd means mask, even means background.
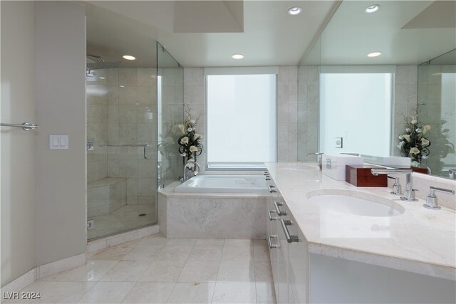
[{"label": "white ceiling reflected in the mirror, with two recessed lights", "polygon": [[[306,64],[417,65],[456,48],[455,1],[375,1],[380,10],[366,14],[372,4],[343,1]],[[383,54],[368,58],[374,51]]]}]

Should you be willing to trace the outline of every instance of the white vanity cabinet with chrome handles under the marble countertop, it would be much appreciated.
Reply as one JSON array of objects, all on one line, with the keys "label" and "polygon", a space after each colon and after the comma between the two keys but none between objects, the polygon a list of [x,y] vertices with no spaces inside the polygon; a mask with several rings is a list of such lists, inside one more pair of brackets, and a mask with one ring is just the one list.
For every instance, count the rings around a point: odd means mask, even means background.
[{"label": "white vanity cabinet with chrome handles under the marble countertop", "polygon": [[456,303],[454,280],[321,254],[273,190],[266,231],[277,303]]}]

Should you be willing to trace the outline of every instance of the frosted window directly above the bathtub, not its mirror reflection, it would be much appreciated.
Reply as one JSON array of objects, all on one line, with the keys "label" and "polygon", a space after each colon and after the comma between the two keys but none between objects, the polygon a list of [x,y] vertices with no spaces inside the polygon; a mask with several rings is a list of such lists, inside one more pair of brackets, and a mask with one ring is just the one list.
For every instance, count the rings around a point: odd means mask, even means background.
[{"label": "frosted window directly above the bathtub, not its mirror reflection", "polygon": [[276,75],[207,75],[206,130],[208,167],[275,162]]}]

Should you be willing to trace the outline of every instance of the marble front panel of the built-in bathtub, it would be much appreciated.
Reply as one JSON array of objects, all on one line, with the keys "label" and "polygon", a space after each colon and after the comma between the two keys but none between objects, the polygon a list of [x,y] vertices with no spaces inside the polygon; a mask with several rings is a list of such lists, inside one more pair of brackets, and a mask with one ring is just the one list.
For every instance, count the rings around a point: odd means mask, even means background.
[{"label": "marble front panel of the built-in bathtub", "polygon": [[168,238],[265,239],[266,198],[247,194],[158,194],[160,234]]}]

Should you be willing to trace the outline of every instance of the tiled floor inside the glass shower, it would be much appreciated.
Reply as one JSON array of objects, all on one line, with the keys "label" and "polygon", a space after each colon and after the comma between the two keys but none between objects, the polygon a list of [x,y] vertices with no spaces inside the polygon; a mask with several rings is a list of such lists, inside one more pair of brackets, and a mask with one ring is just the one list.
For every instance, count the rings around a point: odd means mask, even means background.
[{"label": "tiled floor inside the glass shower", "polygon": [[[139,216],[145,214],[145,216]],[[92,216],[94,229],[87,231],[88,239],[119,233],[128,229],[154,224],[155,206],[126,205],[108,215]]]}]

